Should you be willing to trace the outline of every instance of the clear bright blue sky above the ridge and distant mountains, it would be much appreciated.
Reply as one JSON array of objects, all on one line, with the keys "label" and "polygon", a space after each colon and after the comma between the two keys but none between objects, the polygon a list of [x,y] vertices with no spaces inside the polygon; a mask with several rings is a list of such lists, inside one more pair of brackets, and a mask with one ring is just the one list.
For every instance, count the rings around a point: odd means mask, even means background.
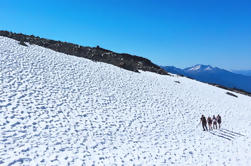
[{"label": "clear bright blue sky above the ridge and distant mountains", "polygon": [[251,69],[248,0],[4,0],[0,29],[100,45],[159,65]]}]

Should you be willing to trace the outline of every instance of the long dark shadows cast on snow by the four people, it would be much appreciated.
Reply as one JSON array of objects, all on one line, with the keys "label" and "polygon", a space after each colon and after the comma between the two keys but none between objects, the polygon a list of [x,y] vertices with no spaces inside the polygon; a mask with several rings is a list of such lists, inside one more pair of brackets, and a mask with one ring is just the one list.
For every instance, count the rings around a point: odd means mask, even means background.
[{"label": "long dark shadows cast on snow by the four people", "polygon": [[221,138],[229,140],[229,141],[236,139],[238,137],[245,136],[241,133],[230,131],[228,129],[211,130],[211,131],[209,131],[209,133],[211,133],[214,136],[221,137]]}]

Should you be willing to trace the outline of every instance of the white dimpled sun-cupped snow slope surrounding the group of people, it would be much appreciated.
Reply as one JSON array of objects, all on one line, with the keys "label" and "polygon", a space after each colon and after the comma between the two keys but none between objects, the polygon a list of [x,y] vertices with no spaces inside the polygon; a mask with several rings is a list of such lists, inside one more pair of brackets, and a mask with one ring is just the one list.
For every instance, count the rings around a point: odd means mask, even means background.
[{"label": "white dimpled sun-cupped snow slope surrounding the group of people", "polygon": [[248,96],[5,37],[0,65],[0,165],[251,165]]}]

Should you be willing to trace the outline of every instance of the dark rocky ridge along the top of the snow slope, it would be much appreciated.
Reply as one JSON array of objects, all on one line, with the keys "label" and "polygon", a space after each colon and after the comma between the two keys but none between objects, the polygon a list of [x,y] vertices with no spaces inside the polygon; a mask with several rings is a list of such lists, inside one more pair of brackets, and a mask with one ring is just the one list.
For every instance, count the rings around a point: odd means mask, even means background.
[{"label": "dark rocky ridge along the top of the snow slope", "polygon": [[57,52],[62,52],[69,55],[87,58],[93,61],[109,63],[130,71],[139,72],[139,70],[150,71],[162,75],[168,75],[168,72],[153,64],[150,60],[133,56],[130,54],[119,54],[103,48],[97,47],[83,47],[77,44],[68,42],[61,42],[40,38],[34,35],[24,35],[21,33],[12,33],[8,31],[0,31],[0,36],[15,39],[21,45],[26,46],[25,43],[39,45],[45,48],[52,49]]}]

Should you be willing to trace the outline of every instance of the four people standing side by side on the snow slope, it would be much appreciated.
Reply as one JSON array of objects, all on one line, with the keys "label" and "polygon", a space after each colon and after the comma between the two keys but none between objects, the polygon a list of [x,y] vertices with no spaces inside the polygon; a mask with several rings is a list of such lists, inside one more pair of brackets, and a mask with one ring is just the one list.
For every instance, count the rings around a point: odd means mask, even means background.
[{"label": "four people standing side by side on the snow slope", "polygon": [[[215,115],[213,115],[213,118],[211,118],[210,116],[206,119],[206,117],[204,115],[201,116],[200,118],[200,123],[202,123],[202,128],[203,131],[208,131],[208,130],[213,130],[213,129],[217,129],[217,124],[218,127],[220,129],[220,125],[221,125],[221,116],[218,115],[217,117],[215,117]],[[207,128],[207,124],[208,124],[208,128]],[[213,127],[212,127],[213,125]]]}]

